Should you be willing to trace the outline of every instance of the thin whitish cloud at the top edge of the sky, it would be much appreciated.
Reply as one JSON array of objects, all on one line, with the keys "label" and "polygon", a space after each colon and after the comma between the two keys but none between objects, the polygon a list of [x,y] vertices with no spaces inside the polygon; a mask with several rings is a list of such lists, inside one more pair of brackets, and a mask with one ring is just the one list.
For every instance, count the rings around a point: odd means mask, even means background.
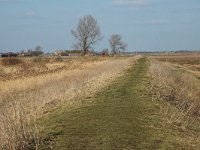
[{"label": "thin whitish cloud at the top edge of the sky", "polygon": [[118,6],[147,6],[152,0],[113,0],[114,5]]}]

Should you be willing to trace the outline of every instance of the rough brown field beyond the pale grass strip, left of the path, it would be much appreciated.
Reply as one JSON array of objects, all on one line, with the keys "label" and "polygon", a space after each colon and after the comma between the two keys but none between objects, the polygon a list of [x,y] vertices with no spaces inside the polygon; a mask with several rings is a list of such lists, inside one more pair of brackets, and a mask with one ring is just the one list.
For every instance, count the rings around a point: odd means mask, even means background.
[{"label": "rough brown field beyond the pale grass strip, left of the path", "polygon": [[[10,58],[6,58],[10,59]],[[11,58],[12,59],[12,58]],[[16,65],[2,65],[0,63],[0,81],[21,79],[24,77],[52,74],[62,70],[83,68],[93,62],[103,61],[106,58],[66,58],[66,57],[25,57],[14,58],[20,60]],[[109,59],[109,58],[107,58]],[[0,61],[4,59],[0,58]]]}]

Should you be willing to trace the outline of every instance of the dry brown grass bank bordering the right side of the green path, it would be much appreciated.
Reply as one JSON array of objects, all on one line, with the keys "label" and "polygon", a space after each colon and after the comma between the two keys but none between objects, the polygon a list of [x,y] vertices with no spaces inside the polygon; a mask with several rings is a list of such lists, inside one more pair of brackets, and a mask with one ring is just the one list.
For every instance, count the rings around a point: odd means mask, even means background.
[{"label": "dry brown grass bank bordering the right side of the green path", "polygon": [[[200,117],[200,82],[193,75],[178,71],[170,63],[151,61],[151,91],[154,98],[176,106],[166,110],[169,123],[187,127],[193,116]],[[169,107],[171,108],[171,107]]]}]

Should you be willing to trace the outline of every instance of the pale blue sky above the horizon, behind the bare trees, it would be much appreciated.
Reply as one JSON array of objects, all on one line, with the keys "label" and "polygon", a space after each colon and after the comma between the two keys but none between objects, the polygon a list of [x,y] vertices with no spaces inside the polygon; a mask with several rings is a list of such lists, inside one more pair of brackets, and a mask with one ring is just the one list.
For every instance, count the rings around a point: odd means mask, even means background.
[{"label": "pale blue sky above the horizon, behind the bare trees", "polygon": [[97,19],[102,41],[120,34],[128,51],[200,50],[200,0],[0,0],[0,52],[72,49],[79,18]]}]

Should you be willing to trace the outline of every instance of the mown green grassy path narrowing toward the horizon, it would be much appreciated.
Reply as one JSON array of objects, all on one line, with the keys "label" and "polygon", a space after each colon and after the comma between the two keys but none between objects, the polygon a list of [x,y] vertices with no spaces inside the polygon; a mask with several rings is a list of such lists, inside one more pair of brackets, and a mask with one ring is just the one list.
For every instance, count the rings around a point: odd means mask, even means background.
[{"label": "mown green grassy path narrowing toward the horizon", "polygon": [[147,67],[146,59],[140,59],[125,76],[88,98],[92,103],[71,111],[59,109],[43,120],[46,134],[55,138],[54,149],[181,148],[168,140],[163,116],[145,94]]}]

